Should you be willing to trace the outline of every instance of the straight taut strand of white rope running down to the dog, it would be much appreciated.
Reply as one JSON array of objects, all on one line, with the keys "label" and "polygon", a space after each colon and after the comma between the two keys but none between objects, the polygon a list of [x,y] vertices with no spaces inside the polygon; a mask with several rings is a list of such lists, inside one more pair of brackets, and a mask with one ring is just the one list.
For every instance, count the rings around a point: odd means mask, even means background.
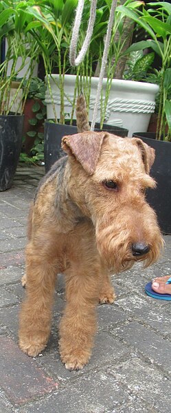
[{"label": "straight taut strand of white rope running down to the dog", "polygon": [[101,66],[101,69],[100,69],[100,76],[99,76],[99,81],[98,81],[98,90],[97,90],[97,94],[96,94],[96,98],[95,98],[93,118],[92,118],[92,122],[91,122],[91,131],[94,130],[95,121],[96,121],[97,114],[98,114],[98,103],[100,101],[100,94],[101,94],[101,90],[102,90],[104,72],[105,72],[106,63],[107,63],[107,56],[108,56],[108,53],[109,53],[109,46],[110,46],[110,41],[111,41],[111,31],[112,31],[113,19],[114,19],[114,13],[115,13],[116,6],[117,6],[117,0],[113,0],[112,5],[111,5],[109,24],[108,24],[108,28],[107,28],[107,32],[106,32],[106,39],[105,39],[105,43],[104,43],[102,66]]}]

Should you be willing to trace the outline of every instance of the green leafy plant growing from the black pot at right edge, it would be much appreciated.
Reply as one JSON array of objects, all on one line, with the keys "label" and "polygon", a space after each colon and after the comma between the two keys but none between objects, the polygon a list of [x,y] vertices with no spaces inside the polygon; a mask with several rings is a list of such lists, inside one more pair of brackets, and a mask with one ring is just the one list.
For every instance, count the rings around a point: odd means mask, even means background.
[{"label": "green leafy plant growing from the black pot at right edge", "polygon": [[[148,10],[128,10],[119,6],[118,10],[128,15],[150,35],[150,40],[135,43],[127,52],[135,52],[151,47],[161,58],[159,113],[157,138],[171,141],[171,5],[168,1],[148,3]],[[167,130],[168,129],[168,130]]]}]

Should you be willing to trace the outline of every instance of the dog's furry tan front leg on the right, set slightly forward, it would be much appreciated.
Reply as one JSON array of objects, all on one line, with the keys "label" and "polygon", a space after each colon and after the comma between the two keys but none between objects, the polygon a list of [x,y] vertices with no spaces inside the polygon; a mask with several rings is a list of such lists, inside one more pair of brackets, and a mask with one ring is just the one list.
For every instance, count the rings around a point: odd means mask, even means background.
[{"label": "dog's furry tan front leg on the right, set slightly forward", "polygon": [[[89,271],[89,272],[88,272]],[[88,363],[96,330],[95,307],[100,291],[99,265],[73,266],[66,274],[67,306],[60,321],[60,357],[69,370]]]}]

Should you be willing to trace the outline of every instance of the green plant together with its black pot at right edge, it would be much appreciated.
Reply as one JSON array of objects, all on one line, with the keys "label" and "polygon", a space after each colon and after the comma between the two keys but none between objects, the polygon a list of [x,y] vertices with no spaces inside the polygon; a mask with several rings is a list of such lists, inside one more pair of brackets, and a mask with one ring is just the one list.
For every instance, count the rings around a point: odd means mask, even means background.
[{"label": "green plant together with its black pot at right edge", "polygon": [[[141,41],[130,46],[130,51],[151,47],[161,59],[159,72],[155,71],[159,83],[159,112],[157,133],[148,135],[135,131],[148,145],[155,148],[156,158],[152,166],[152,176],[157,181],[157,189],[148,192],[148,200],[157,211],[159,224],[164,233],[171,233],[171,5],[168,1],[148,3],[150,9],[131,11],[134,19],[150,35],[150,40]],[[121,6],[124,13],[127,10]],[[153,76],[154,78],[154,76]]]}]

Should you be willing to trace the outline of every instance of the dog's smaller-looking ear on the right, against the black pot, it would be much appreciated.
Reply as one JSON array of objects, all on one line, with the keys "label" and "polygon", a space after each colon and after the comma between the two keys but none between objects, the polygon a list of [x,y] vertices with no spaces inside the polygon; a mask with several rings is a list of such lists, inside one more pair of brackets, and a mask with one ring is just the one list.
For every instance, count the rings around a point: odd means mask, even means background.
[{"label": "dog's smaller-looking ear on the right, against the black pot", "polygon": [[150,173],[150,168],[155,162],[155,149],[146,145],[146,143],[139,138],[132,138],[132,142],[139,147],[141,157],[144,162],[145,171],[146,173]]}]

